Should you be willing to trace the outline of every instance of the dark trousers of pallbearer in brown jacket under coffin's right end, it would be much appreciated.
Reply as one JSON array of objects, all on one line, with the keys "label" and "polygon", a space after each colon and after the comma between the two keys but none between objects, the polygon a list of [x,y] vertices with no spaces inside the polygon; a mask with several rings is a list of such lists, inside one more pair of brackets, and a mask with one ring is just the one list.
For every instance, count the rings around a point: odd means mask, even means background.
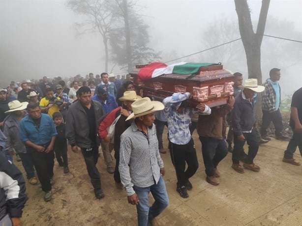
[{"label": "dark trousers of pallbearer in brown jacket under coffin's right end", "polygon": [[214,168],[228,154],[228,148],[224,139],[215,139],[209,137],[199,137],[202,147],[202,156],[208,176],[214,175]]}]

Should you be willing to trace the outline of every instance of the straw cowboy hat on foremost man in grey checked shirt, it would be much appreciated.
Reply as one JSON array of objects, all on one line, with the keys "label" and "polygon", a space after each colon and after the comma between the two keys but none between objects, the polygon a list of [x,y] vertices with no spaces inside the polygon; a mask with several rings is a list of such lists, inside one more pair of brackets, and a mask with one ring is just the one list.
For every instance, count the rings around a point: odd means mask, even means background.
[{"label": "straw cowboy hat on foremost man in grey checked shirt", "polygon": [[131,104],[132,113],[127,117],[126,121],[153,112],[161,111],[165,106],[159,101],[151,101],[149,97],[144,97]]}]

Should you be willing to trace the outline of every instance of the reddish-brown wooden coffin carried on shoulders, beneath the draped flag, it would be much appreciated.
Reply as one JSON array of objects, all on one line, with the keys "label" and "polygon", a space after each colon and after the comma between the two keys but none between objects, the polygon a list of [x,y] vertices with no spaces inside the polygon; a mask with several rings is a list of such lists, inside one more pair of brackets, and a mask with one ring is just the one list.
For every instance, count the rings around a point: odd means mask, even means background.
[{"label": "reddish-brown wooden coffin carried on shoulders, beneath the draped flag", "polygon": [[209,107],[224,105],[233,95],[233,75],[222,65],[201,67],[196,75],[164,74],[149,80],[139,81],[138,71],[146,65],[137,65],[129,74],[137,90],[144,96],[163,100],[175,92],[190,92],[188,105],[196,107],[202,102]]}]

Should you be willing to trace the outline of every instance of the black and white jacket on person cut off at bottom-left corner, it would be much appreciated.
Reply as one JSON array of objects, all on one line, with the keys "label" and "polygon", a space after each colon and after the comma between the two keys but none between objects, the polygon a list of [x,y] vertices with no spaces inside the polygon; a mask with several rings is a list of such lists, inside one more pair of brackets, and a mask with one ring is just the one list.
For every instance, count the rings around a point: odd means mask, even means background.
[{"label": "black and white jacket on person cut off at bottom-left corner", "polygon": [[22,209],[27,201],[25,190],[22,173],[0,151],[0,218],[6,213],[10,217],[22,217]]}]

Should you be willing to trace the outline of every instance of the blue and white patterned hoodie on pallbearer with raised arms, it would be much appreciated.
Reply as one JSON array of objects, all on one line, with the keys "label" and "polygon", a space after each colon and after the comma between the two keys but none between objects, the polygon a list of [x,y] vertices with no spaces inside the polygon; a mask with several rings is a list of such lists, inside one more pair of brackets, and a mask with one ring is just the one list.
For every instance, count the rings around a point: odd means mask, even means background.
[{"label": "blue and white patterned hoodie on pallbearer with raised arms", "polygon": [[168,119],[169,140],[175,144],[187,144],[191,140],[189,125],[193,113],[211,114],[211,109],[206,105],[204,112],[185,107],[183,112],[177,112],[181,102],[190,98],[190,93],[174,93],[163,100],[164,112]]}]

